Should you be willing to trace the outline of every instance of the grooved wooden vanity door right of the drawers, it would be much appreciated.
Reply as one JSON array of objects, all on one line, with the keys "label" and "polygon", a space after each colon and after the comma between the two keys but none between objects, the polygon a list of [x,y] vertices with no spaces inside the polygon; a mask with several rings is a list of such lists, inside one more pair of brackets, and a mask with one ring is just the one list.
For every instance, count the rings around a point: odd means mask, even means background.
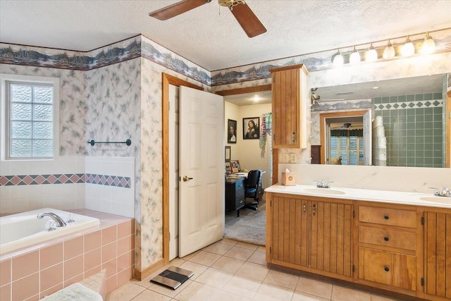
[{"label": "grooved wooden vanity door right of the drawers", "polygon": [[424,291],[451,298],[451,214],[424,214]]}]

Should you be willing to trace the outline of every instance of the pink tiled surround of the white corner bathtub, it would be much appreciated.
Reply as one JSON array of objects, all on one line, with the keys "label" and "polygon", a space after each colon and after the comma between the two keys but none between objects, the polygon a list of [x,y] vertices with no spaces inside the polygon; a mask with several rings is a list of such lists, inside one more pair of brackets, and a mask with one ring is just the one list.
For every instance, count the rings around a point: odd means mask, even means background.
[{"label": "pink tiled surround of the white corner bathtub", "polygon": [[39,300],[106,269],[106,293],[127,283],[135,262],[135,221],[88,209],[70,210],[100,225],[0,255],[0,300]]}]

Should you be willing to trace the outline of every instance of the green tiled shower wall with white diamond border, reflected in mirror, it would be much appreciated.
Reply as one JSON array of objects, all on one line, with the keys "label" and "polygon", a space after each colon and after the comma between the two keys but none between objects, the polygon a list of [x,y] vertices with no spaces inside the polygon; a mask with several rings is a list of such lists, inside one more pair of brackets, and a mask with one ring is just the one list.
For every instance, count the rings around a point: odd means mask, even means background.
[{"label": "green tiled shower wall with white diamond border, reflected in mirror", "polygon": [[443,166],[442,99],[442,92],[371,99],[374,116],[383,116],[388,166]]}]

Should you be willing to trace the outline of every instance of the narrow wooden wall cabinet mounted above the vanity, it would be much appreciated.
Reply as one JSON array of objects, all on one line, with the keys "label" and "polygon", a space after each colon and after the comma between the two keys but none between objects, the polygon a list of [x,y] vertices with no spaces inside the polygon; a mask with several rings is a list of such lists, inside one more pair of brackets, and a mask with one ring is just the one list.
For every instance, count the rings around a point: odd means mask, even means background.
[{"label": "narrow wooden wall cabinet mounted above the vanity", "polygon": [[307,68],[271,68],[273,148],[307,148]]}]

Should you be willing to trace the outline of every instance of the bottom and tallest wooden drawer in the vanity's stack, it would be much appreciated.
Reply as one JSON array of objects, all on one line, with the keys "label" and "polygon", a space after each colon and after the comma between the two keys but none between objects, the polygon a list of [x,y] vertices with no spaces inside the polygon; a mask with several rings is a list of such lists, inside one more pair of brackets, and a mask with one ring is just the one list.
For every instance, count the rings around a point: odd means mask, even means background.
[{"label": "bottom and tallest wooden drawer in the vanity's stack", "polygon": [[416,257],[360,247],[359,278],[416,290]]}]

